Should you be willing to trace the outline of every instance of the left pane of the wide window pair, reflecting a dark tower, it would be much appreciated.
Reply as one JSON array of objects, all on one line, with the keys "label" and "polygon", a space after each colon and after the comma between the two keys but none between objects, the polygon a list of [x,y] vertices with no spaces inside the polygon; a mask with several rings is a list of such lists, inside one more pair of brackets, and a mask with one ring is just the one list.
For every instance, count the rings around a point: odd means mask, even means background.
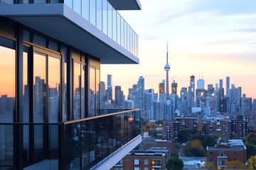
[{"label": "left pane of the wide window pair, reflecting a dark tower", "polygon": [[33,54],[34,122],[46,121],[46,54]]}]

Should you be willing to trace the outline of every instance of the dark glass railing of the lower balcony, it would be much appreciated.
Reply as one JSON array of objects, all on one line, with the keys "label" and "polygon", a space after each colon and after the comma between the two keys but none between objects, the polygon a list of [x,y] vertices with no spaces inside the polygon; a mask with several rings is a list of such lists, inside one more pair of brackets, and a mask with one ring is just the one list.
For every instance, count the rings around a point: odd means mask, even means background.
[{"label": "dark glass railing of the lower balcony", "polygon": [[65,123],[0,123],[0,169],[92,169],[140,135],[139,109]]}]

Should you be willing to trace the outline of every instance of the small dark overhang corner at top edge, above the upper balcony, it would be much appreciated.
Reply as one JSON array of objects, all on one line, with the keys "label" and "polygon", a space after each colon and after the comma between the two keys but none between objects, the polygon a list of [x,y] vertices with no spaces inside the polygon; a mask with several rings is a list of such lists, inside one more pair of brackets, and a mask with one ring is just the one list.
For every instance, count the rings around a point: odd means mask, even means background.
[{"label": "small dark overhang corner at top edge, above the upper balcony", "polygon": [[107,0],[115,10],[141,10],[142,4],[139,0]]}]

